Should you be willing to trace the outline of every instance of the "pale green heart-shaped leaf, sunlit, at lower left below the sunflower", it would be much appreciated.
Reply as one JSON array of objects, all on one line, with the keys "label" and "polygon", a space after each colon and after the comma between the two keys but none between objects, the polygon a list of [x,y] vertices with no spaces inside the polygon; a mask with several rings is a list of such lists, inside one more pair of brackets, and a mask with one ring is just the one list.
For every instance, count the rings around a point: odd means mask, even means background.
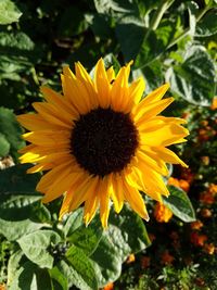
[{"label": "pale green heart-shaped leaf, sunlit, at lower left below the sunflower", "polygon": [[24,254],[40,267],[52,268],[53,256],[49,252],[51,245],[61,242],[61,237],[53,230],[37,230],[17,240]]}]

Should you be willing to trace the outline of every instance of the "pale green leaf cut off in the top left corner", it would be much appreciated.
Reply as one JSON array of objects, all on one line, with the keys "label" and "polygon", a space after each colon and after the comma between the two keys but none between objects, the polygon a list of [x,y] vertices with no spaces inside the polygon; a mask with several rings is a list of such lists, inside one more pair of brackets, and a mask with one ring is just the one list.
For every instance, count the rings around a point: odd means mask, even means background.
[{"label": "pale green leaf cut off in the top left corner", "polygon": [[14,2],[10,0],[0,1],[0,24],[11,24],[17,22],[22,13]]}]

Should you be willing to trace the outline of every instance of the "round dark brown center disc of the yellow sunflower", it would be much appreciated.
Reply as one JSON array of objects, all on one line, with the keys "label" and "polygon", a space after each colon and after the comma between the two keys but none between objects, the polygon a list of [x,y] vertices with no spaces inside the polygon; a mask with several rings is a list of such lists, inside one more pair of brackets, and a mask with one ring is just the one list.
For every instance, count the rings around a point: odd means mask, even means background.
[{"label": "round dark brown center disc of the yellow sunflower", "polygon": [[138,131],[129,114],[98,108],[75,122],[72,153],[90,174],[103,177],[124,169],[138,147]]}]

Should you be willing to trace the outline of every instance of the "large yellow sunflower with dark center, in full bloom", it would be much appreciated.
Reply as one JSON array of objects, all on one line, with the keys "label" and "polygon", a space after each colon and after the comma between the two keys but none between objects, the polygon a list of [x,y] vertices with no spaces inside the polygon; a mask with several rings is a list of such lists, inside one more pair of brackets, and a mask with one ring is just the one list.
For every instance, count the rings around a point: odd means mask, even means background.
[{"label": "large yellow sunflower with dark center, in full bloom", "polygon": [[33,104],[37,114],[17,116],[30,142],[21,150],[21,163],[35,163],[27,173],[46,171],[36,188],[44,203],[64,196],[60,217],[84,203],[86,225],[100,207],[105,228],[112,202],[119,213],[126,201],[149,220],[140,192],[162,202],[169,194],[166,163],[187,166],[166,148],[188,135],[184,119],[159,115],[174,101],[162,100],[169,85],[140,101],[144,81],[128,84],[130,64],[115,75],[101,59],[93,79],[79,62],[75,74],[65,66],[63,94],[41,87],[44,102]]}]

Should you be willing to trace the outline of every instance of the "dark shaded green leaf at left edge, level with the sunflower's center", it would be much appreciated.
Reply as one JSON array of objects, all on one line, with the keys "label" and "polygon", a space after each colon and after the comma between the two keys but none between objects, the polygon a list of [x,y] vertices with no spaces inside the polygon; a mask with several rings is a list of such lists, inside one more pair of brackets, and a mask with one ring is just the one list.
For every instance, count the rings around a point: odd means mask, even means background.
[{"label": "dark shaded green leaf at left edge, level with the sunflower's center", "polygon": [[15,119],[13,112],[5,108],[0,108],[0,133],[5,136],[10,143],[10,153],[17,156],[17,150],[24,147],[25,142],[21,138],[22,129]]}]

